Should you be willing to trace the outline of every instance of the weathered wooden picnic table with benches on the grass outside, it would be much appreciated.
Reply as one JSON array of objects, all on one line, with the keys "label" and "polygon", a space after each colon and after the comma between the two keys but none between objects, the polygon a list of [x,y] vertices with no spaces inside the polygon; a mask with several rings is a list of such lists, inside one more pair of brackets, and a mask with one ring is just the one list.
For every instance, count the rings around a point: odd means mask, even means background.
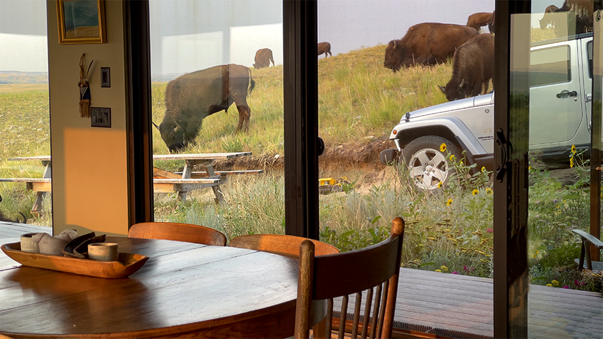
[{"label": "weathered wooden picnic table with benches on the grass outside", "polygon": [[[232,153],[191,153],[191,154],[157,154],[153,155],[155,160],[184,160],[182,172],[171,172],[161,168],[153,167],[153,191],[156,193],[177,192],[178,199],[186,200],[188,192],[199,188],[211,187],[216,202],[223,201],[224,196],[220,185],[224,184],[227,175],[239,175],[250,173],[262,173],[264,170],[250,171],[214,171],[212,162],[214,160],[226,160],[251,155],[251,152]],[[37,155],[34,157],[8,158],[10,161],[40,161],[44,166],[44,174],[41,178],[0,178],[0,182],[24,182],[28,190],[36,192],[36,201],[32,206],[32,213],[38,214],[42,211],[42,201],[47,192],[51,192],[52,162],[50,155]],[[201,165],[205,171],[193,172],[195,165]]]}]

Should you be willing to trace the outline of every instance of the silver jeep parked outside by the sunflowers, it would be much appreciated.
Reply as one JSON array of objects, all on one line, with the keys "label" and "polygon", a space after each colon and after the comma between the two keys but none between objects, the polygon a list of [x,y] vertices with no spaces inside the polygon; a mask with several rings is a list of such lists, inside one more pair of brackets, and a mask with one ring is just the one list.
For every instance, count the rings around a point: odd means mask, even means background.
[{"label": "silver jeep parked outside by the sunflowers", "polygon": [[[532,44],[530,151],[567,160],[572,145],[589,148],[592,79],[592,33]],[[449,154],[466,151],[469,164],[493,168],[493,126],[493,93],[408,112],[389,136],[396,148],[382,151],[380,160],[407,164],[417,187],[434,190],[450,176]]]}]

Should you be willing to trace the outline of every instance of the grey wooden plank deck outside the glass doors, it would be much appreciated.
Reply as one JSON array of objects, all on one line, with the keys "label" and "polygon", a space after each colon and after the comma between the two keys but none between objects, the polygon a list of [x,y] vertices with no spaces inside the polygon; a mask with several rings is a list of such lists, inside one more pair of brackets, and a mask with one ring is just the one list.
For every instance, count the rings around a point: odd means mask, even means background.
[{"label": "grey wooden plank deck outside the glass doors", "polygon": [[[0,222],[0,239],[40,231],[51,233],[49,227]],[[401,268],[395,327],[424,338],[491,338],[492,293],[492,279]],[[603,338],[601,293],[531,285],[528,312],[528,338]]]}]

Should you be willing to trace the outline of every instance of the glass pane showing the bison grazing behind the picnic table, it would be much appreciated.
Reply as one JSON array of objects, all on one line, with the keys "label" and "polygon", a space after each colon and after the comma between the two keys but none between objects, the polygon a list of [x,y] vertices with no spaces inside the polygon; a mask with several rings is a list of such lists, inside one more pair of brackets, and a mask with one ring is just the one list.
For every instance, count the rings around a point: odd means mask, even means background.
[{"label": "glass pane showing the bison grazing behind the picnic table", "polygon": [[281,1],[151,0],[150,16],[155,220],[284,234]]}]

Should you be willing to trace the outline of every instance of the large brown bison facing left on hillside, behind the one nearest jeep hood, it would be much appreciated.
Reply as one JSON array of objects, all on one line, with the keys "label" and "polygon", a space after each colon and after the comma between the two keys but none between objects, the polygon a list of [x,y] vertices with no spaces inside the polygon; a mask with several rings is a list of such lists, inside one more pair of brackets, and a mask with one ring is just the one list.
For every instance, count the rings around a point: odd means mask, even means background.
[{"label": "large brown bison facing left on hillside, behind the one nearest jeep hood", "polygon": [[478,34],[475,28],[469,26],[419,23],[410,27],[402,40],[389,42],[383,66],[395,73],[403,66],[445,62],[457,47]]}]

